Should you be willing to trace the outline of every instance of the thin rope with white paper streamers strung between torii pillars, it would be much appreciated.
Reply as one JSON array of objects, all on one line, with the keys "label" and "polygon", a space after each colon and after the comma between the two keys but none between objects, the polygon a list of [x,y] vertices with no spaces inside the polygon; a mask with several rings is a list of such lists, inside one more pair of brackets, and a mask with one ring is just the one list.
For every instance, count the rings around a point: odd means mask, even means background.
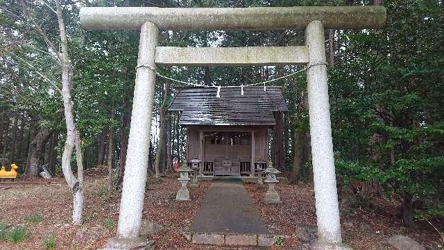
[{"label": "thin rope with white paper streamers strung between torii pillars", "polygon": [[203,88],[217,88],[217,94],[216,94],[216,97],[217,97],[217,98],[220,98],[220,97],[221,97],[221,95],[220,95],[221,88],[241,88],[241,95],[244,95],[244,87],[251,87],[251,86],[257,86],[257,85],[264,85],[264,91],[266,91],[266,84],[267,84],[267,83],[273,83],[273,82],[278,81],[278,80],[283,79],[283,78],[289,78],[290,76],[293,76],[293,75],[298,74],[298,73],[300,73],[300,72],[305,72],[305,71],[306,71],[307,69],[309,69],[310,67],[313,67],[313,66],[316,66],[316,65],[327,65],[327,63],[324,63],[324,62],[319,62],[319,63],[308,63],[308,64],[307,64],[307,67],[304,67],[303,69],[300,69],[300,70],[298,70],[298,71],[296,71],[296,72],[292,72],[292,73],[287,74],[287,75],[285,75],[285,76],[280,76],[280,77],[278,77],[278,78],[273,78],[273,79],[271,79],[271,80],[262,81],[262,82],[259,82],[259,83],[250,83],[250,84],[246,84],[246,85],[242,84],[242,85],[240,85],[240,86],[239,86],[239,85],[221,86],[221,85],[214,85],[214,84],[212,84],[212,85],[205,85],[205,84],[199,84],[199,83],[190,83],[190,82],[187,82],[187,81],[180,81],[180,80],[178,80],[178,79],[174,79],[174,78],[171,78],[171,77],[164,76],[164,75],[160,74],[159,72],[157,72],[157,70],[155,69],[155,67],[153,67],[153,66],[151,66],[151,65],[137,65],[136,69],[139,68],[139,67],[146,67],[146,68],[148,68],[148,69],[153,70],[153,72],[155,72],[155,74],[156,74],[157,76],[161,77],[161,78],[165,78],[165,79],[167,79],[167,80],[169,80],[169,81],[173,81],[173,82],[176,82],[176,83],[182,83],[182,84],[184,84],[184,85],[188,85],[188,86],[201,87],[201,88],[202,88],[202,87],[203,87]]}]

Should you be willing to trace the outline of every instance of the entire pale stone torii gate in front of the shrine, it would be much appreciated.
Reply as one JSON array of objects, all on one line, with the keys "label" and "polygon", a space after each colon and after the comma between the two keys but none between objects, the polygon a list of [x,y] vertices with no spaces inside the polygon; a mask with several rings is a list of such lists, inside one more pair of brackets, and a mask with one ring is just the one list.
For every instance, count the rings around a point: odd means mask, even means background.
[{"label": "entire pale stone torii gate in front of the shrine", "polygon": [[[139,56],[117,238],[108,249],[134,249],[144,206],[157,65],[306,65],[311,153],[318,241],[311,249],[345,249],[342,244],[334,171],[324,28],[382,28],[382,6],[155,8],[85,7],[80,22],[92,30],[140,30]],[[304,29],[305,46],[248,48],[157,47],[159,30]]]}]

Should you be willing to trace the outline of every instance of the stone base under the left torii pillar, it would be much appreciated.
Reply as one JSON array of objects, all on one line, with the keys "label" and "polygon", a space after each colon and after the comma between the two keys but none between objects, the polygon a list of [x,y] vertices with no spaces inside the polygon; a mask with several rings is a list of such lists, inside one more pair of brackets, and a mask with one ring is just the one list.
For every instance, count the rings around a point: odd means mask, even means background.
[{"label": "stone base under the left torii pillar", "polygon": [[99,250],[153,250],[154,243],[154,240],[148,240],[146,236],[133,239],[114,237]]}]

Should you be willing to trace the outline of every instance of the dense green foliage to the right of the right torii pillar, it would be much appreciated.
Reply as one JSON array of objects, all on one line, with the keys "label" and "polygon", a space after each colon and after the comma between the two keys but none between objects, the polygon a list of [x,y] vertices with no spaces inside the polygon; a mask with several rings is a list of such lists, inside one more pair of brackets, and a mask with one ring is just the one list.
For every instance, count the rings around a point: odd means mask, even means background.
[{"label": "dense green foliage to the right of the right torii pillar", "polygon": [[386,27],[344,31],[341,63],[329,69],[336,170],[347,182],[379,181],[386,194],[420,201],[416,213],[439,216],[444,53],[436,41],[444,40],[444,6],[433,0],[384,6]]}]

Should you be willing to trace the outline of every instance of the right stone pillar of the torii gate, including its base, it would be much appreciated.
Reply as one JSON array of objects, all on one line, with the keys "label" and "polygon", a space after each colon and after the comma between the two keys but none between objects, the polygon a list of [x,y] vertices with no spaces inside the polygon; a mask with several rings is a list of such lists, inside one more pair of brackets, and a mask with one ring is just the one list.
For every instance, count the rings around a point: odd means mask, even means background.
[{"label": "right stone pillar of the torii gate, including its base", "polygon": [[318,242],[310,247],[320,250],[345,249],[339,222],[324,39],[322,22],[310,22],[305,28],[305,43],[309,49],[307,92],[318,224]]}]

